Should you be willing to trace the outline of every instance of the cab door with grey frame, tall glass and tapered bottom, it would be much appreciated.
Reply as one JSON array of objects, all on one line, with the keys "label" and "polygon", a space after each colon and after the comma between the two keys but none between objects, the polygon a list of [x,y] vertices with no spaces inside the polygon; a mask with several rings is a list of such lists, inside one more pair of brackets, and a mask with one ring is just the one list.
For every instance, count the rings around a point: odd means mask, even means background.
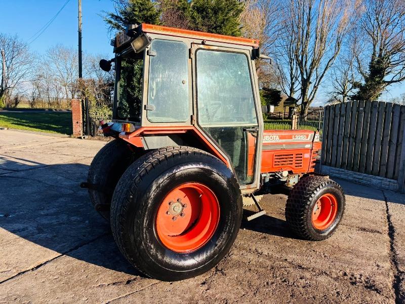
[{"label": "cab door with grey frame, tall glass and tapered bottom", "polygon": [[192,58],[196,123],[226,154],[241,188],[255,187],[247,186],[257,181],[260,134],[250,52],[193,45]]}]

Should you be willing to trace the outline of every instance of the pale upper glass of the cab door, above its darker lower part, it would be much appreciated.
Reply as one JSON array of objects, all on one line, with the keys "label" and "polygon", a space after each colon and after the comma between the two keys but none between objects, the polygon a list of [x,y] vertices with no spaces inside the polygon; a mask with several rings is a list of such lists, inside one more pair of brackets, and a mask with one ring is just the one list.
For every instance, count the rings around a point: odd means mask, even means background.
[{"label": "pale upper glass of the cab door, above its darker lower part", "polygon": [[245,54],[198,50],[197,92],[201,126],[257,124]]}]

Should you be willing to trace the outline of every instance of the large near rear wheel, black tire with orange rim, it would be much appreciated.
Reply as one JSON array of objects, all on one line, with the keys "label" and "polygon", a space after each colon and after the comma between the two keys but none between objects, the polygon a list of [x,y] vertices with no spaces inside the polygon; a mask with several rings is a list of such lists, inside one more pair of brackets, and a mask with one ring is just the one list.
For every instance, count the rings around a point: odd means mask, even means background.
[{"label": "large near rear wheel, black tire with orange rim", "polygon": [[[188,195],[192,187],[201,195]],[[183,191],[180,202],[187,202],[183,211],[176,209],[181,206],[173,207],[179,201],[177,191]],[[210,199],[203,201],[204,196]],[[173,220],[177,229],[176,223],[197,210],[193,204],[211,208],[205,223],[211,233],[201,242],[192,237],[206,212],[194,215],[174,236],[161,237],[162,231],[171,229],[172,217],[177,216]],[[160,216],[168,216],[163,225],[157,220]],[[240,189],[232,171],[214,156],[191,147],[160,148],[141,157],[121,176],[111,203],[111,229],[119,250],[141,273],[163,281],[195,277],[213,268],[231,248],[241,219]],[[189,245],[184,239],[187,234]]]}]

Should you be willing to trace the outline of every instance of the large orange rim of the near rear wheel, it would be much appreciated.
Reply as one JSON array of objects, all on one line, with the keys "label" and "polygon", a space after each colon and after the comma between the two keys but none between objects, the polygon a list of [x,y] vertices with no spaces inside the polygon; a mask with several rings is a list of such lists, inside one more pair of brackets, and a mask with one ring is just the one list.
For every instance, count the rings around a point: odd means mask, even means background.
[{"label": "large orange rim of the near rear wheel", "polygon": [[184,183],[161,202],[156,215],[157,236],[172,251],[193,252],[214,235],[219,214],[218,199],[209,187]]}]

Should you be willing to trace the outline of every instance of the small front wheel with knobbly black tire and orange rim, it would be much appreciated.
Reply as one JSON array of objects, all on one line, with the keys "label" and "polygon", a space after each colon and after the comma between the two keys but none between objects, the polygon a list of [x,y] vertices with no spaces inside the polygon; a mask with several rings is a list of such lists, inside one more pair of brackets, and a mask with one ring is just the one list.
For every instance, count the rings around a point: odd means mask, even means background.
[{"label": "small front wheel with knobbly black tire and orange rim", "polygon": [[335,181],[317,175],[303,177],[292,189],[286,220],[301,238],[320,241],[336,231],[345,210],[343,189]]}]

